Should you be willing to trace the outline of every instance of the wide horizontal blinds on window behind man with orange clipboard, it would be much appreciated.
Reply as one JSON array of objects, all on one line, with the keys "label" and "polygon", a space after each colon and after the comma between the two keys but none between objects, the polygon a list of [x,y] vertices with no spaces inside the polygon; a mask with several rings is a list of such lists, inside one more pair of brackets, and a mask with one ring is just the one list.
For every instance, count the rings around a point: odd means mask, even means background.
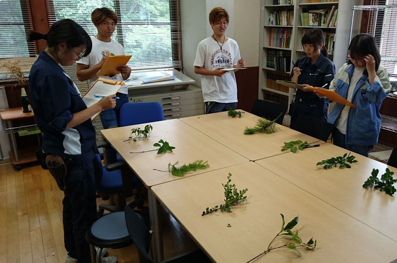
[{"label": "wide horizontal blinds on window behind man with orange clipboard", "polygon": [[112,39],[132,55],[132,69],[182,67],[179,0],[47,0],[46,6],[50,25],[73,19],[90,36],[97,34],[91,12],[110,8],[119,18]]}]

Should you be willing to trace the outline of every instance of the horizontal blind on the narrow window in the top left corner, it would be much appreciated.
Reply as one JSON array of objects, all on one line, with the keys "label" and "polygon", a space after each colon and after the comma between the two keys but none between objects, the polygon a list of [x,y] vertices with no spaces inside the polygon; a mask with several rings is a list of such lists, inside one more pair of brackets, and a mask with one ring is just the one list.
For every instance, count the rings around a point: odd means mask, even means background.
[{"label": "horizontal blind on the narrow window in the top left corner", "polygon": [[0,57],[35,55],[35,44],[26,40],[33,29],[27,0],[0,0],[0,25]]}]

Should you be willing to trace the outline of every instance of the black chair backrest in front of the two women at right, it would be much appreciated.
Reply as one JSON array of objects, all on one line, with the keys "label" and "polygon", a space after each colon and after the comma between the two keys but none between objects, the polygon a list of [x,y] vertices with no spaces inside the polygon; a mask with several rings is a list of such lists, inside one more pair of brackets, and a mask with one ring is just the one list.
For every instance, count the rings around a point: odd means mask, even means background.
[{"label": "black chair backrest in front of the two women at right", "polygon": [[294,126],[295,130],[325,142],[334,127],[333,124],[302,113],[298,115]]}]

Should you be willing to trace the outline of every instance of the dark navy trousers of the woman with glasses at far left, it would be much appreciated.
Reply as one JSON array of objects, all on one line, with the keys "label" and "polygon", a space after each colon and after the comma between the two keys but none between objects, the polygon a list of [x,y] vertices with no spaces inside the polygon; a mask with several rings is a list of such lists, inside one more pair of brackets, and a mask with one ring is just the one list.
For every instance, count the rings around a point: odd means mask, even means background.
[{"label": "dark navy trousers of the woman with glasses at far left", "polygon": [[78,263],[90,263],[90,246],[85,232],[97,219],[93,162],[67,164],[63,225],[66,251]]}]

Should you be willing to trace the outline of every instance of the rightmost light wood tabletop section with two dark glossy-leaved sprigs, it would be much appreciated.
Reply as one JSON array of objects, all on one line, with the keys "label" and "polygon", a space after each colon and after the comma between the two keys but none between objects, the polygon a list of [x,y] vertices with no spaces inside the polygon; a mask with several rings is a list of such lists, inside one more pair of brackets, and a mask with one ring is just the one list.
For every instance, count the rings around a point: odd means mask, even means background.
[{"label": "rightmost light wood tabletop section with two dark glossy-leaved sprigs", "polygon": [[373,168],[379,170],[378,178],[385,173],[386,167],[395,173],[393,178],[396,178],[397,169],[353,152],[351,154],[356,156],[358,162],[351,164],[349,169],[333,167],[325,170],[323,166],[316,166],[322,160],[345,153],[349,154],[349,151],[325,143],[320,147],[295,154],[289,152],[256,163],[397,241],[396,194],[389,196],[374,188],[362,188]]}]

